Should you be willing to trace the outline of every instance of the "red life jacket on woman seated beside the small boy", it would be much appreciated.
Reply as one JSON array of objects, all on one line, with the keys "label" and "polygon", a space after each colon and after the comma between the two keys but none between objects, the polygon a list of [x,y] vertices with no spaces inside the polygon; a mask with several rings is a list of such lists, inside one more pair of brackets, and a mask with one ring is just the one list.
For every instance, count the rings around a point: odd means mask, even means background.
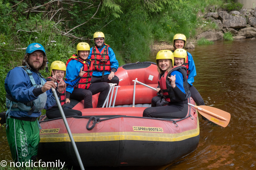
[{"label": "red life jacket on woman seated beside the small boy", "polygon": [[[82,88],[82,89],[88,89],[91,85],[91,79],[92,79],[92,67],[93,67],[93,63],[90,62],[90,64],[88,64],[86,61],[81,60],[79,57],[77,57],[76,54],[72,55],[72,57],[70,57],[66,63],[66,67],[68,67],[68,63],[71,60],[76,60],[77,62],[80,62],[84,65],[84,75],[83,77],[80,79],[80,81],[77,83],[77,85],[74,88]],[[88,60],[89,61],[89,60]]]}]

